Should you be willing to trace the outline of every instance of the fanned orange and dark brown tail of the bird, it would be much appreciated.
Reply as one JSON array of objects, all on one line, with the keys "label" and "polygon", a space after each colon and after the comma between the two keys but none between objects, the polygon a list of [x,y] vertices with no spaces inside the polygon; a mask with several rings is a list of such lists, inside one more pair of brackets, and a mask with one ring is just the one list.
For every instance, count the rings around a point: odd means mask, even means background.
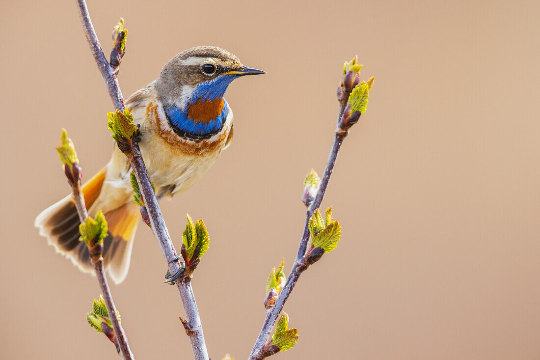
[{"label": "fanned orange and dark brown tail of the bird", "polygon": [[[83,185],[86,209],[90,209],[96,202],[104,180],[105,168]],[[124,281],[129,270],[133,237],[139,217],[139,206],[134,202],[105,213],[109,233],[103,241],[103,258],[105,268],[117,284]],[[81,271],[93,274],[88,248],[85,243],[79,241],[79,224],[71,195],[43,210],[35,222],[36,228],[39,228],[39,235],[46,237],[57,252],[68,257]]]}]

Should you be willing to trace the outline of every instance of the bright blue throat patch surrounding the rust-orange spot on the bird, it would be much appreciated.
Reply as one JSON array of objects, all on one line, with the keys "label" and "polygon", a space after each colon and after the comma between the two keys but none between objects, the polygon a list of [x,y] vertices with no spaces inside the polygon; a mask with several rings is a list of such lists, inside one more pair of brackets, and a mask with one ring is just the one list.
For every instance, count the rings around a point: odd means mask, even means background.
[{"label": "bright blue throat patch surrounding the rust-orange spot on the bird", "polygon": [[[234,75],[221,75],[212,81],[200,83],[193,90],[191,99],[184,109],[177,106],[169,106],[165,110],[165,116],[171,128],[180,137],[190,138],[195,141],[210,138],[217,134],[225,124],[229,105],[223,99],[223,109],[221,113],[211,121],[198,121],[188,116],[190,104],[199,103],[204,106],[205,102],[213,102],[221,99],[225,95],[229,84],[236,78]],[[200,106],[199,105],[199,106]]]}]

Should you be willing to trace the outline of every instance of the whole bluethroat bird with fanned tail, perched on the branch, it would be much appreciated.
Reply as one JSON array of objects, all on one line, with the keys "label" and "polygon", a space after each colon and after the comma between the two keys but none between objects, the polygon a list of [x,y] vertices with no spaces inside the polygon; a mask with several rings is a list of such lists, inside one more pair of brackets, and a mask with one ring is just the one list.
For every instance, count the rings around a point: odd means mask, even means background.
[{"label": "whole bluethroat bird with fanned tail, perched on the branch", "polygon": [[[264,73],[247,68],[224,49],[198,46],[174,56],[158,79],[127,99],[126,107],[140,125],[139,146],[158,198],[183,192],[204,176],[233,137],[233,112],[223,97],[227,87],[240,76]],[[89,215],[102,210],[109,224],[104,260],[115,283],[124,281],[129,270],[140,218],[130,172],[130,163],[115,145],[109,163],[83,185]],[[35,225],[57,252],[92,272],[87,246],[79,242],[71,196],[43,210]]]}]

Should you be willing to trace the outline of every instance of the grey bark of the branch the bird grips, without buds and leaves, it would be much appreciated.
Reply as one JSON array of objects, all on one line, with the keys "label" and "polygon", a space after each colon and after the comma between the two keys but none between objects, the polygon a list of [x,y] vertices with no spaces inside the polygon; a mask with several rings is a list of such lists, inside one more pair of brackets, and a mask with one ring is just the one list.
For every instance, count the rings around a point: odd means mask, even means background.
[{"label": "grey bark of the branch the bird grips, without buds and leaves", "polygon": [[[122,92],[120,91],[120,86],[118,84],[118,79],[116,75],[116,69],[114,69],[103,54],[103,50],[99,44],[95,30],[93,29],[92,22],[90,20],[90,15],[86,7],[86,2],[84,0],[77,0],[79,5],[80,18],[83,23],[83,29],[86,35],[86,40],[90,45],[90,49],[96,64],[98,65],[99,71],[102,73],[103,79],[107,85],[107,90],[112,99],[114,107],[123,111],[125,109],[124,98]],[[139,146],[136,141],[133,141],[132,149],[130,151],[124,152],[126,157],[131,163],[131,168],[133,169],[134,174],[137,177],[139,183],[140,192],[143,196],[144,203],[146,205],[150,223],[152,225],[152,232],[154,236],[158,239],[159,246],[163,252],[168,263],[168,270],[171,274],[176,274],[180,269],[180,264],[177,260],[178,254],[174,249],[172,244],[171,237],[168,233],[167,226],[161,214],[159,208],[158,200],[150,179],[146,166],[144,165],[143,157],[140,153]],[[197,303],[195,302],[195,297],[193,295],[193,289],[191,287],[190,278],[181,278],[175,282],[180,294],[180,298],[184,305],[184,310],[186,312],[186,321],[192,329],[190,332],[190,341],[191,347],[193,350],[193,356],[195,360],[208,360],[208,352],[206,350],[206,343],[203,334],[203,325],[199,317],[199,311],[197,309]]]}]

